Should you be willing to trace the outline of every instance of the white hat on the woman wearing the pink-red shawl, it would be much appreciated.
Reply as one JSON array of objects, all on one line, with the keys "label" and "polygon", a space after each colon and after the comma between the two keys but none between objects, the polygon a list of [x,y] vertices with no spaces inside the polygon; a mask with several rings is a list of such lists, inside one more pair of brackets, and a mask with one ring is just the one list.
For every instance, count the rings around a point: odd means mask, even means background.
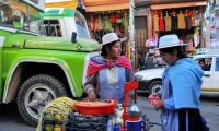
[{"label": "white hat on the woman wearing the pink-red shawl", "polygon": [[108,33],[102,37],[103,45],[110,44],[112,41],[120,40],[120,43],[125,41],[127,37],[118,38],[115,33]]}]

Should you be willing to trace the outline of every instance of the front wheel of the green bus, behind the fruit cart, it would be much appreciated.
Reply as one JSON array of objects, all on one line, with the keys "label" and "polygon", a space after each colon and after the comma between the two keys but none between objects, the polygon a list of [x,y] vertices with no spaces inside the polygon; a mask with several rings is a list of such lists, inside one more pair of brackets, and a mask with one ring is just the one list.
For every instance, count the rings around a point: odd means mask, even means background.
[{"label": "front wheel of the green bus, behind the fruit cart", "polygon": [[37,74],[21,85],[16,103],[23,119],[30,126],[36,127],[44,107],[48,102],[60,96],[67,96],[60,81],[47,74]]}]

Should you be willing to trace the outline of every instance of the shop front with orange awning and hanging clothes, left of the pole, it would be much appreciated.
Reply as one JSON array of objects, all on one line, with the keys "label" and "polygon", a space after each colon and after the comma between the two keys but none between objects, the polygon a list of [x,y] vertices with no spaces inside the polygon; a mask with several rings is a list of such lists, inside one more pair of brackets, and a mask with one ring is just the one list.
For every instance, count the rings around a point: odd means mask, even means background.
[{"label": "shop front with orange awning and hanging clothes, left of the pole", "polygon": [[[102,36],[116,33],[119,38],[129,38],[129,0],[84,0],[85,17],[92,39],[102,44]],[[126,40],[122,53],[126,55]]]}]

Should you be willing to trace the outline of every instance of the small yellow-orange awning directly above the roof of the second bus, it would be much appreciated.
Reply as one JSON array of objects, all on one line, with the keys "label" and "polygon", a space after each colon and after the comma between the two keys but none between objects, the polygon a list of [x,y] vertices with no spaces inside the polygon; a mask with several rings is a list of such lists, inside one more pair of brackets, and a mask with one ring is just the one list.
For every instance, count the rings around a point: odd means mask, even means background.
[{"label": "small yellow-orange awning directly above the roof of the second bus", "polygon": [[71,8],[78,7],[78,0],[46,0],[46,8]]}]

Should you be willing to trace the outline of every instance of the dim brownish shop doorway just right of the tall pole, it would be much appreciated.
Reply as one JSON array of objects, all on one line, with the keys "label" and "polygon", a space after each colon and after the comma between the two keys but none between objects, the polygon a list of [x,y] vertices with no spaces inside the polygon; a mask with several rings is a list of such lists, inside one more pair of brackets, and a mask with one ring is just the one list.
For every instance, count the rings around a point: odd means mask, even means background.
[{"label": "dim brownish shop doorway just right of the tall pole", "polygon": [[136,56],[136,68],[138,64],[138,51],[146,51],[145,44],[147,40],[147,16],[136,16],[135,17],[135,56]]}]

